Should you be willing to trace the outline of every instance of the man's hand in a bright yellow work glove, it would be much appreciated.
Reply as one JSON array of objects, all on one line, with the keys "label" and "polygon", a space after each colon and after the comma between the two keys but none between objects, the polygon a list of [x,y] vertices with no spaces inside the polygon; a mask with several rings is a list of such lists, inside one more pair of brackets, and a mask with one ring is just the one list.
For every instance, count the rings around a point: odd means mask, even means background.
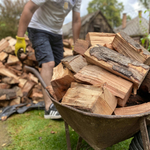
[{"label": "man's hand in a bright yellow work glove", "polygon": [[25,37],[18,37],[16,36],[17,43],[15,45],[15,55],[18,57],[18,50],[21,48],[23,49],[23,52],[26,52],[26,42],[25,42]]}]

